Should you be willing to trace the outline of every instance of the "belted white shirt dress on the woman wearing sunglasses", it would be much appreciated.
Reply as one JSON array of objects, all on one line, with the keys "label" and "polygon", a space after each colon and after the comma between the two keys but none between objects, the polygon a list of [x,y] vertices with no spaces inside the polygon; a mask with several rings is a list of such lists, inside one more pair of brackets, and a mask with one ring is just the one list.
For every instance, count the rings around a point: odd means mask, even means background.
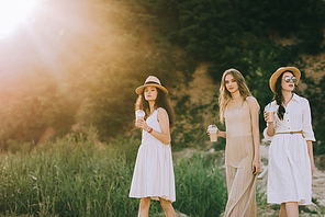
[{"label": "belted white shirt dress on the woman wearing sunglasses", "polygon": [[[278,111],[276,101],[270,106]],[[273,137],[267,135],[267,128],[264,130],[265,138],[271,140],[268,203],[298,202],[299,205],[309,205],[312,203],[312,174],[306,140],[315,141],[309,101],[293,94],[282,121],[276,112],[273,126]],[[300,130],[303,135],[277,134]]]}]

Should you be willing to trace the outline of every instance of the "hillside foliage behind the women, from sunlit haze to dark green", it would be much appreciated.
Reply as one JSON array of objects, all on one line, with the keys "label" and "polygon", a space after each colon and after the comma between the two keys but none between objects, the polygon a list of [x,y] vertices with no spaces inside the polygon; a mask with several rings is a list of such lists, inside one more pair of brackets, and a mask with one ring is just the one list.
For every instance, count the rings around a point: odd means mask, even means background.
[{"label": "hillside foliage behind the women, from sunlit haze to dark green", "polygon": [[[16,75],[3,78],[11,87],[1,87],[2,149],[9,139],[36,144],[48,127],[65,135],[74,125],[79,132],[93,125],[101,140],[128,132],[134,90],[147,76],[177,90],[178,75],[188,83],[203,61],[216,82],[225,69],[242,71],[262,108],[272,98],[267,83],[277,68],[303,66],[302,54],[324,50],[322,0],[58,0],[40,8],[60,14],[63,23],[42,14],[30,23],[38,44],[33,35],[22,37],[23,30],[0,41],[0,71]],[[178,105],[184,100],[178,93],[171,98]],[[202,111],[217,110],[213,103],[189,103],[186,118],[200,122]],[[183,119],[173,137],[193,146],[205,129],[198,125],[182,137]]]}]

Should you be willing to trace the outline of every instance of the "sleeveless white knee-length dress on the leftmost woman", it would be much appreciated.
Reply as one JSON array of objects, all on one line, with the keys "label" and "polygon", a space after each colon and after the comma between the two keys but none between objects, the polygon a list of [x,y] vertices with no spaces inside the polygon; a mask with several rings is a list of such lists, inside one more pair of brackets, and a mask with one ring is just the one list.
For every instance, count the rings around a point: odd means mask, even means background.
[{"label": "sleeveless white knee-length dress on the leftmost woman", "polygon": [[[152,113],[146,123],[153,129],[161,133],[157,119],[158,110]],[[146,130],[143,130],[142,145],[137,152],[130,197],[152,197],[157,201],[161,197],[170,202],[176,201],[170,147]]]}]

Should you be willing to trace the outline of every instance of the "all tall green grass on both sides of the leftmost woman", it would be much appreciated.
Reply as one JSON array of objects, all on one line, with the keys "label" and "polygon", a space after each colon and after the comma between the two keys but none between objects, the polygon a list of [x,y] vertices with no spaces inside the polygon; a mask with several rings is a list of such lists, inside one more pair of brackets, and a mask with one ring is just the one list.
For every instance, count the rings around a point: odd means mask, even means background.
[{"label": "all tall green grass on both sides of the leftmost woman", "polygon": [[[0,215],[136,216],[128,198],[139,139],[101,144],[96,132],[69,135],[37,149],[23,145],[0,156]],[[200,156],[175,163],[176,209],[217,216],[225,205],[223,175]],[[150,214],[160,213],[153,203]]]}]

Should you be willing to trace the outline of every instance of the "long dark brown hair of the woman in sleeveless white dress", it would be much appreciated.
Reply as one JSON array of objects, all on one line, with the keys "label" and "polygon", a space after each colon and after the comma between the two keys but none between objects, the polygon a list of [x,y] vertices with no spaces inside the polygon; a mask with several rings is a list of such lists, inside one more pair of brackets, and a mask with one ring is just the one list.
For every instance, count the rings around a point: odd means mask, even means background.
[{"label": "long dark brown hair of the woman in sleeveless white dress", "polygon": [[[147,118],[150,114],[150,107],[149,107],[148,101],[145,100],[144,90],[137,96],[137,100],[135,102],[135,111],[137,111],[137,110],[145,111],[145,113],[146,113],[145,118]],[[175,113],[173,113],[173,108],[171,106],[170,100],[167,96],[167,94],[164,91],[161,91],[159,88],[156,88],[156,90],[157,90],[157,99],[155,101],[154,107],[155,107],[155,110],[157,110],[158,107],[162,107],[166,110],[168,117],[169,117],[169,126],[171,127],[175,122]]]}]

